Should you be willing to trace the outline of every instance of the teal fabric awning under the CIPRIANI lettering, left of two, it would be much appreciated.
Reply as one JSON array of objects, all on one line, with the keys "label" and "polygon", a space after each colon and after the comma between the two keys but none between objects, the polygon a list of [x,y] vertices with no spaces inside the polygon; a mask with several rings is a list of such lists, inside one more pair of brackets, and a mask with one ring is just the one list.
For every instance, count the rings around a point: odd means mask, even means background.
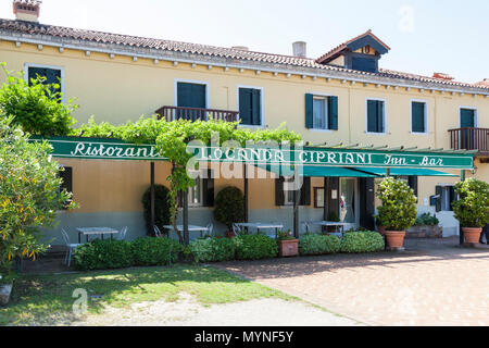
[{"label": "teal fabric awning under the CIPRIANI lettering, left of two", "polygon": [[[292,166],[281,165],[256,165],[258,167],[265,169],[277,175],[290,176],[293,175]],[[363,170],[354,170],[341,166],[321,166],[321,165],[302,165],[302,176],[310,177],[378,177],[378,174],[368,173]]]}]

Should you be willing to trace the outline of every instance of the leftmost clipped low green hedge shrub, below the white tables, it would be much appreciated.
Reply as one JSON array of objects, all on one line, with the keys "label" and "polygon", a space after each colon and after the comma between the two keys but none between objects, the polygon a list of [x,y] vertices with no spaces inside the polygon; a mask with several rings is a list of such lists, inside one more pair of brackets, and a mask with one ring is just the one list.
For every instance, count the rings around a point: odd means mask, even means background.
[{"label": "leftmost clipped low green hedge shrub, below the white tables", "polygon": [[128,268],[131,259],[130,244],[125,240],[96,239],[73,252],[76,268],[82,271]]}]

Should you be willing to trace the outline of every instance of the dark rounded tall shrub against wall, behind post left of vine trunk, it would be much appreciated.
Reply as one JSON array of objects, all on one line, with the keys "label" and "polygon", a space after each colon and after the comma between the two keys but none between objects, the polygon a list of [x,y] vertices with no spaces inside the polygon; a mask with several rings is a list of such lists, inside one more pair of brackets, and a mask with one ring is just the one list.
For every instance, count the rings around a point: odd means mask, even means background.
[{"label": "dark rounded tall shrub against wall, behind post left of vine trunk", "polygon": [[[154,224],[163,233],[164,225],[170,225],[170,190],[163,185],[154,185]],[[142,195],[142,207],[145,211],[146,231],[148,236],[154,236],[151,225],[151,187]]]}]

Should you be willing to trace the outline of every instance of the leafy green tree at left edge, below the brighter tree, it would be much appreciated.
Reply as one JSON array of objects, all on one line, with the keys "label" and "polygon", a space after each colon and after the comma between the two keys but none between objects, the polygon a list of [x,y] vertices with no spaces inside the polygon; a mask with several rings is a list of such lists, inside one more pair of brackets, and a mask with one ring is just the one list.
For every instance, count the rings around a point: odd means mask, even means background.
[{"label": "leafy green tree at left edge, below the brighter tree", "polygon": [[[0,274],[14,258],[35,259],[47,248],[40,227],[52,227],[72,195],[61,189],[59,165],[48,142],[29,141],[0,110]],[[71,202],[68,209],[74,208]]]}]

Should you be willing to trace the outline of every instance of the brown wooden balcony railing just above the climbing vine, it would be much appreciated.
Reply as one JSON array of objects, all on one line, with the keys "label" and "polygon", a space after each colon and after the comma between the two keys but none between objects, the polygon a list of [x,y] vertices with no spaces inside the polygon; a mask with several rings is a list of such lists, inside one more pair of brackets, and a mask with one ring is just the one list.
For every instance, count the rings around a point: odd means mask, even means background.
[{"label": "brown wooden balcony railing just above the climbing vine", "polygon": [[160,115],[160,119],[165,119],[166,121],[174,120],[203,120],[209,121],[213,120],[222,120],[226,122],[236,122],[238,121],[238,111],[231,110],[217,110],[217,109],[201,109],[201,108],[183,108],[183,107],[163,107],[155,111],[156,114]]}]

